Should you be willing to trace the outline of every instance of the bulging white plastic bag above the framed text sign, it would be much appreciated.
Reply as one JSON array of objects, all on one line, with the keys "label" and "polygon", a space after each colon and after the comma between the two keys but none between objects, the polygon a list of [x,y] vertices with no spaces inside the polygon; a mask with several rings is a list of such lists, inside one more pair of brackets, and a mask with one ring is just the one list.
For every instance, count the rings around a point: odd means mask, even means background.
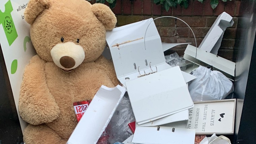
[{"label": "bulging white plastic bag above the framed text sign", "polygon": [[194,102],[225,99],[234,91],[233,83],[221,72],[199,66],[189,84],[189,93]]}]

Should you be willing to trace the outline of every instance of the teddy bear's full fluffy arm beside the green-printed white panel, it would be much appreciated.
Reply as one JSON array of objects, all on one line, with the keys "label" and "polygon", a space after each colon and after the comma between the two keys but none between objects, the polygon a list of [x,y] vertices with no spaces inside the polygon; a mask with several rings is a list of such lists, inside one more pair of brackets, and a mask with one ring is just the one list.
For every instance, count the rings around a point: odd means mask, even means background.
[{"label": "teddy bear's full fluffy arm beside the green-printed white panel", "polygon": [[20,91],[19,112],[31,124],[52,122],[59,107],[46,84],[44,61],[34,56],[25,68]]}]

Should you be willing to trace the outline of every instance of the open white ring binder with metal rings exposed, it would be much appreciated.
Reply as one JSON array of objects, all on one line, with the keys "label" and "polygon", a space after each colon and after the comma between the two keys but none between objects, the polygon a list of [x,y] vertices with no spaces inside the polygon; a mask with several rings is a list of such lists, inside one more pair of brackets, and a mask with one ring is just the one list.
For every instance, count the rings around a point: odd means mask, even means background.
[{"label": "open white ring binder with metal rings exposed", "polygon": [[165,48],[152,18],[115,28],[106,33],[106,40],[113,45],[109,49],[116,74],[127,89],[137,124],[194,106],[186,83],[195,77],[165,62]]}]

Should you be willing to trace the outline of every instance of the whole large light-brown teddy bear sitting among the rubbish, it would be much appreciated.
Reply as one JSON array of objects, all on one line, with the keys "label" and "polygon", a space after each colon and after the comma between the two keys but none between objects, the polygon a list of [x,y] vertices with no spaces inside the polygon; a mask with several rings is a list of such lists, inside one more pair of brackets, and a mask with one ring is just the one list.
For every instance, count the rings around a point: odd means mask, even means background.
[{"label": "whole large light-brown teddy bear sitting among the rubbish", "polygon": [[21,85],[19,111],[30,123],[24,142],[64,144],[77,124],[73,103],[119,83],[113,63],[101,56],[117,20],[106,5],[86,0],[30,0],[25,20],[37,55]]}]

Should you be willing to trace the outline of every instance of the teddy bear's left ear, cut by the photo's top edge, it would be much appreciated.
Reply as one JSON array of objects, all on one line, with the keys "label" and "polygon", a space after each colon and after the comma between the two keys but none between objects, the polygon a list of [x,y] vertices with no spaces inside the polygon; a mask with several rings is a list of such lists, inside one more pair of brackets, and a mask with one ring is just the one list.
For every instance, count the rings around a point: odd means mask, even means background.
[{"label": "teddy bear's left ear, cut by the photo's top edge", "polygon": [[24,12],[24,18],[27,23],[32,25],[36,17],[45,9],[50,7],[49,0],[30,0]]}]

